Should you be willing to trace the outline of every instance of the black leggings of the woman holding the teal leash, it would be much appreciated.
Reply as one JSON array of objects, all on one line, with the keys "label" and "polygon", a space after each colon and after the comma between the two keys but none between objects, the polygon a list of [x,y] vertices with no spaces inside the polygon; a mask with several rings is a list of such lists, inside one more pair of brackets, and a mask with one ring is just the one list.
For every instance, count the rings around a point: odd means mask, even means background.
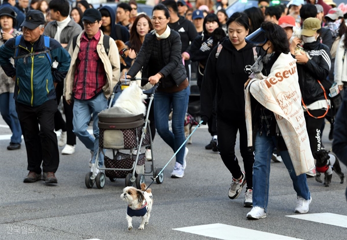
[{"label": "black leggings of the woman holding the teal leash", "polygon": [[240,132],[240,153],[243,158],[247,189],[253,186],[254,154],[247,149],[247,129],[244,119],[226,120],[217,116],[218,150],[220,157],[234,178],[241,176],[241,168],[235,156],[237,130]]}]

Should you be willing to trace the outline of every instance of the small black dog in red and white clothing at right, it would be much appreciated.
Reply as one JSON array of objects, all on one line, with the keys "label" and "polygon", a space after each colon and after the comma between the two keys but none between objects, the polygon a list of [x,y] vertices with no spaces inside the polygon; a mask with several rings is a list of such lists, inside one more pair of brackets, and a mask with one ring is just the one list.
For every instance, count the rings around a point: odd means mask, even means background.
[{"label": "small black dog in red and white clothing at right", "polygon": [[323,182],[320,179],[320,173],[324,173],[324,184],[329,186],[331,183],[331,178],[333,176],[333,171],[339,175],[341,182],[343,183],[344,175],[341,171],[340,163],[337,156],[331,152],[326,151],[325,149],[321,149],[315,153],[313,153],[314,159],[316,159],[316,181]]}]

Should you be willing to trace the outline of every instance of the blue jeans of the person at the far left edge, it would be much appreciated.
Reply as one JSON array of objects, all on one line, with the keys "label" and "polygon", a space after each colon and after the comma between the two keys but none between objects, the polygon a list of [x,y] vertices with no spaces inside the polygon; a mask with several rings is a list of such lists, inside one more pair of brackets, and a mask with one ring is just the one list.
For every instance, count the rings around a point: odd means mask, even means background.
[{"label": "blue jeans of the person at the far left edge", "polygon": [[7,92],[0,94],[0,113],[12,131],[11,143],[21,143],[22,132],[16,112],[13,93]]}]

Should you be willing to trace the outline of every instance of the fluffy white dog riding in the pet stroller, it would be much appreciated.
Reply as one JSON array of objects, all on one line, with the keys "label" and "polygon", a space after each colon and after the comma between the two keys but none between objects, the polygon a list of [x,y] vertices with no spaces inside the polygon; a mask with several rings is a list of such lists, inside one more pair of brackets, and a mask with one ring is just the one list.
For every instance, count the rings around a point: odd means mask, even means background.
[{"label": "fluffy white dog riding in the pet stroller", "polygon": [[120,108],[129,114],[146,115],[145,99],[147,99],[147,95],[143,94],[142,89],[136,83],[132,83],[121,92],[112,108]]}]

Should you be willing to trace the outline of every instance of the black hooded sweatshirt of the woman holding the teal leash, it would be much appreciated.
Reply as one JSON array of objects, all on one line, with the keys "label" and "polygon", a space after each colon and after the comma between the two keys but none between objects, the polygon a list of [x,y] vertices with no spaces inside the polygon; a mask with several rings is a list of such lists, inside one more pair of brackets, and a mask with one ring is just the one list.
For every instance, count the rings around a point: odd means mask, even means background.
[{"label": "black hooded sweatshirt of the woman holding the teal leash", "polygon": [[212,115],[215,95],[217,118],[244,119],[243,89],[255,62],[254,45],[247,43],[237,50],[227,38],[222,46],[218,58],[215,56],[218,46],[213,48],[205,68],[200,94],[200,115],[204,121]]}]

